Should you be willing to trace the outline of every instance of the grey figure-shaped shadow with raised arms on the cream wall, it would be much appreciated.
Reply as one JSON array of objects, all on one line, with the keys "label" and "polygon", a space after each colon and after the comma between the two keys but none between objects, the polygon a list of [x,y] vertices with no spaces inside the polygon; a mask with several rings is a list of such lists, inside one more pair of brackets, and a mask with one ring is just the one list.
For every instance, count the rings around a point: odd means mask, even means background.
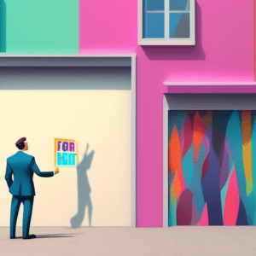
[{"label": "grey figure-shaped shadow with raised arms on the cream wall", "polygon": [[70,219],[70,223],[72,227],[80,227],[84,220],[85,215],[85,207],[88,207],[88,218],[89,225],[91,226],[91,216],[92,216],[92,203],[90,199],[90,184],[87,177],[87,171],[90,169],[91,162],[95,151],[92,150],[90,154],[88,154],[89,144],[87,143],[87,147],[84,152],[84,158],[80,161],[77,166],[78,173],[78,212],[73,218]]}]

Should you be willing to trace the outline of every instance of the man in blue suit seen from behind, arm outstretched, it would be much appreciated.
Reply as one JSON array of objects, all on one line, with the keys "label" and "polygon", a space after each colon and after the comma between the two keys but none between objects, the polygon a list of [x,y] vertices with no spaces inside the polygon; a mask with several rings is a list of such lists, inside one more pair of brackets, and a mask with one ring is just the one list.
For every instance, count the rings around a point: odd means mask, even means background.
[{"label": "man in blue suit seen from behind, arm outstretched", "polygon": [[[40,172],[35,158],[24,152],[28,150],[26,137],[20,138],[15,145],[20,151],[7,159],[5,173],[9,193],[13,195],[10,211],[10,238],[15,238],[16,222],[22,202],[24,206],[22,238],[31,239],[36,238],[35,235],[29,235],[34,195],[36,195],[32,180],[33,173],[35,172],[40,177],[52,177],[59,172],[59,168],[55,168],[55,172]],[[14,175],[14,180],[12,175]]]}]

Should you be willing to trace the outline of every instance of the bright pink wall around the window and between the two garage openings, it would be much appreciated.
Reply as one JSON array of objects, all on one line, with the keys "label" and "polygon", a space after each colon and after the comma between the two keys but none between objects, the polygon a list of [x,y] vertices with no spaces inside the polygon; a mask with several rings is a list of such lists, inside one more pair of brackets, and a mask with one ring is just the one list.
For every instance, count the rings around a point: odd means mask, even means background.
[{"label": "bright pink wall around the window and between the two garage openings", "polygon": [[137,0],[80,0],[81,55],[137,54],[138,227],[163,225],[163,82],[254,80],[254,1],[196,2],[195,46],[141,47]]}]

